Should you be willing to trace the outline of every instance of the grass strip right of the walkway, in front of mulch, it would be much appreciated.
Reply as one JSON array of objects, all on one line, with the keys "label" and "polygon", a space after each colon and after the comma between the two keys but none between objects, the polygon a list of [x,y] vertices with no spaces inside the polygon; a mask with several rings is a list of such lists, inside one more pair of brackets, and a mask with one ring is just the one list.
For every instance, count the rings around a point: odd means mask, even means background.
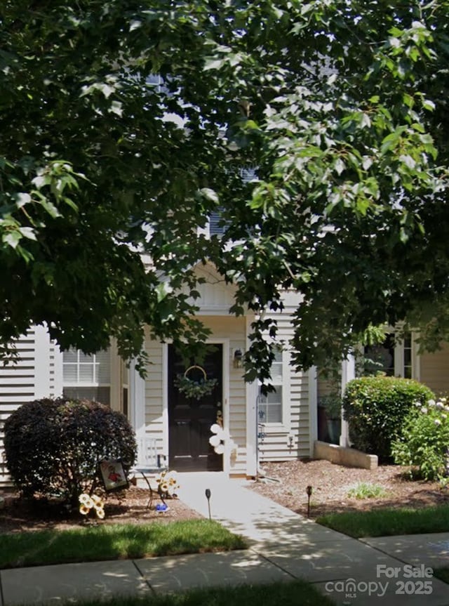
[{"label": "grass strip right of the walkway, in front of mulch", "polygon": [[363,536],[392,536],[448,532],[449,505],[423,509],[397,508],[349,511],[321,515],[316,522],[359,539]]}]

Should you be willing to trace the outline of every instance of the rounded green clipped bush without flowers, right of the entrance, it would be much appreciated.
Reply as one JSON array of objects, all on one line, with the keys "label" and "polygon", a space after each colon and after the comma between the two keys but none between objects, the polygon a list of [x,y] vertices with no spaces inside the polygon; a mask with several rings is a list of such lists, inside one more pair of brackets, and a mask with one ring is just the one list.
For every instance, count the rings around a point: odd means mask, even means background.
[{"label": "rounded green clipped bush without flowers, right of the entrance", "polygon": [[343,407],[353,446],[388,461],[391,442],[401,436],[413,404],[424,404],[432,397],[429,388],[409,378],[364,376],[350,381]]}]

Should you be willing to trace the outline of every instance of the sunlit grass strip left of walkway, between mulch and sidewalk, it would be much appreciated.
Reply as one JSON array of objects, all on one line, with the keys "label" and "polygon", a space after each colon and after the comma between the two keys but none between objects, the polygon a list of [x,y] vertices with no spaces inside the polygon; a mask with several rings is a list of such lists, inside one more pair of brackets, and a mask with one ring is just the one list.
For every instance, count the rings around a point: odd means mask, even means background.
[{"label": "sunlit grass strip left of walkway, between mulch and sidewalk", "polygon": [[0,536],[0,568],[229,551],[245,547],[241,536],[210,520],[17,532]]}]

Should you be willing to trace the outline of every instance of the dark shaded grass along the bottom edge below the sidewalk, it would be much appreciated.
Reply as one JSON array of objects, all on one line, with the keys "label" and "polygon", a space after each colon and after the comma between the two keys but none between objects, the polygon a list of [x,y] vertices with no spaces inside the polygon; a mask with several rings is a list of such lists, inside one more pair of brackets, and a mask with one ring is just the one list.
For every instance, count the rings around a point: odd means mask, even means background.
[{"label": "dark shaded grass along the bottom edge below the sidewalk", "polygon": [[[332,606],[334,604],[335,602],[321,595],[306,581],[194,589],[185,593],[152,595],[148,598],[119,596],[101,602],[102,606]],[[98,599],[79,602],[78,606],[98,606]]]}]

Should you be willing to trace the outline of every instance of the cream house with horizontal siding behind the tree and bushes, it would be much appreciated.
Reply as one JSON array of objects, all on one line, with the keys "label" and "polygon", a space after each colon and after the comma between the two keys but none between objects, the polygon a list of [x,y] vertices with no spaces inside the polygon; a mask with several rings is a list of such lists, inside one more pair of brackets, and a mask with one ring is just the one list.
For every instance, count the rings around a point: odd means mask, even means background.
[{"label": "cream house with horizontal siding behind the tree and bushes", "polygon": [[[158,452],[178,471],[214,470],[252,477],[264,461],[313,456],[314,442],[325,437],[320,435],[318,404],[328,393],[328,383],[315,368],[297,372],[290,367],[288,348],[279,350],[272,367],[275,393],[264,397],[257,383],[245,383],[241,355],[248,347],[252,317],[229,315],[233,286],[220,279],[213,265],[199,265],[196,271],[205,278],[199,285],[199,317],[211,330],[201,362],[186,363],[170,343],[153,341],[147,331],[145,348],[151,364],[143,379],[132,364],[129,369],[123,364],[114,343],[91,356],[76,350],[62,353],[45,327],[32,327],[17,343],[18,364],[0,368],[0,436],[5,419],[20,404],[64,393],[123,411],[137,436],[154,438]],[[297,294],[286,292],[284,303],[282,312],[270,313],[276,316],[279,338],[288,341]],[[396,345],[388,335],[377,354],[388,374],[417,378],[436,393],[449,392],[449,345],[418,355],[412,335]],[[343,362],[342,381],[354,372],[354,360]],[[206,378],[210,391],[199,399],[187,397],[180,378],[194,383]],[[210,427],[217,422],[227,431],[222,454],[209,442]],[[340,443],[344,440],[343,435]],[[0,450],[0,485],[7,482]]]}]

